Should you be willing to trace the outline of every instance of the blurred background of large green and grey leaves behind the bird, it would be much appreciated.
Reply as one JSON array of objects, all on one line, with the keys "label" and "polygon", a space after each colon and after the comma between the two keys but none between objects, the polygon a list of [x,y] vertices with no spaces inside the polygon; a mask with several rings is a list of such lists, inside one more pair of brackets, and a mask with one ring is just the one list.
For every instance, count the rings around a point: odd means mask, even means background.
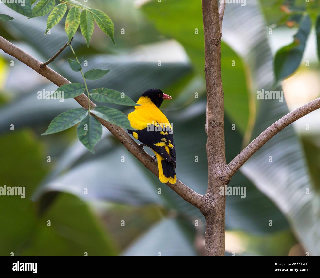
[{"label": "blurred background of large green and grey leaves behind the bird", "polygon": [[[116,46],[97,26],[89,49],[80,28],[74,37],[88,70],[110,69],[88,81],[89,89],[107,87],[134,100],[148,88],[171,95],[162,110],[173,123],[177,177],[205,194],[201,2],[79,2],[106,12],[115,24]],[[299,0],[226,5],[221,68],[227,163],[270,124],[320,96],[315,26],[294,75],[277,83],[273,66],[276,52],[292,43],[299,28],[299,16],[285,8],[296,5],[314,20],[320,4],[310,3],[312,10]],[[1,36],[38,60],[48,60],[67,42],[65,19],[44,36],[47,16],[27,19],[3,4],[0,13],[14,18],[0,21]],[[50,67],[81,83],[68,58],[67,48]],[[258,90],[275,84],[282,86],[283,102],[257,100]],[[24,199],[0,196],[0,255],[203,255],[198,209],[160,183],[106,129],[96,154],[77,140],[76,127],[40,136],[56,115],[78,107],[73,99],[37,99],[38,91],[56,87],[0,51],[0,186],[26,187]],[[114,107],[126,115],[133,109]],[[226,255],[320,255],[319,116],[315,111],[285,128],[233,177],[229,186],[246,187],[246,198],[227,196]]]}]

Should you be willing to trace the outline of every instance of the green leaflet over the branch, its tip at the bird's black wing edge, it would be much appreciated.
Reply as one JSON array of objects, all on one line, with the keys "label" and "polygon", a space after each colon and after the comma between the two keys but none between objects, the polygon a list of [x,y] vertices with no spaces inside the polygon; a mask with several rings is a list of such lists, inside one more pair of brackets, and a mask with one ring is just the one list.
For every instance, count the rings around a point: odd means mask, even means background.
[{"label": "green leaflet over the branch, its tip at the bird's black wing edge", "polygon": [[92,108],[91,113],[124,129],[132,129],[128,117],[117,109],[106,106],[96,106]]}]

